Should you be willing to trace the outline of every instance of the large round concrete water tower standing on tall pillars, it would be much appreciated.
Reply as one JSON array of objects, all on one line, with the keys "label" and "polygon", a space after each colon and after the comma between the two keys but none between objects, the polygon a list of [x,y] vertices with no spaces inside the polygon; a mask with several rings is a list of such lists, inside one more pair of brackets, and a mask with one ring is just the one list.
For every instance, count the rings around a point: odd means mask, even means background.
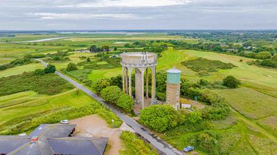
[{"label": "large round concrete water tower standing on tall pillars", "polygon": [[[135,100],[136,103],[141,104],[141,109],[143,109],[144,90],[145,98],[148,98],[148,69],[151,69],[152,75],[151,100],[152,102],[155,100],[157,54],[147,52],[122,53],[120,57],[122,65],[123,91],[132,96],[132,71],[134,70]],[[144,82],[144,74],[146,75],[146,82]]]}]

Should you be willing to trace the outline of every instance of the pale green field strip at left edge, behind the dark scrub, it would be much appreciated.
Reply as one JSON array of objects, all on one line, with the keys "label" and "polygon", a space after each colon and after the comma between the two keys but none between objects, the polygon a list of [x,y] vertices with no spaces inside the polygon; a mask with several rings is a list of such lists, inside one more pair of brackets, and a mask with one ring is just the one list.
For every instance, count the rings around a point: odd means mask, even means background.
[{"label": "pale green field strip at left edge, behind the dark scrub", "polygon": [[42,66],[42,64],[40,63],[32,63],[32,64],[26,64],[23,66],[16,66],[15,68],[0,71],[0,78],[10,76],[10,75],[17,75],[17,74],[21,74],[29,71],[35,71],[35,69],[44,69],[44,66]]}]

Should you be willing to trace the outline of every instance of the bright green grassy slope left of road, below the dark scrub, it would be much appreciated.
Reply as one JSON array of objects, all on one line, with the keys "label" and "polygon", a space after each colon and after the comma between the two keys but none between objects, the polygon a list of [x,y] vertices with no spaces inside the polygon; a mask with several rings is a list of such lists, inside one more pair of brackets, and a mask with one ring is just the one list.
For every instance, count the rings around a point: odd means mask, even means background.
[{"label": "bright green grassy slope left of road, below the dark scrub", "polygon": [[[89,96],[79,93],[76,89],[57,95],[40,95],[34,91],[26,91],[0,97],[0,125],[12,118],[27,116],[33,113],[89,104]],[[2,107],[5,106],[5,107]]]}]

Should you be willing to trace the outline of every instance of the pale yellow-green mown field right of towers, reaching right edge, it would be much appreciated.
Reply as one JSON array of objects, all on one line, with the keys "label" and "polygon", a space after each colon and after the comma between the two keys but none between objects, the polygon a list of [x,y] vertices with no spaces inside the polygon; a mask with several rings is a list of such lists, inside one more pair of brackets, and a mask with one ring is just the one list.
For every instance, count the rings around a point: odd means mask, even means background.
[{"label": "pale yellow-green mown field right of towers, reaching right edge", "polygon": [[[238,66],[233,69],[220,70],[219,73],[215,73],[215,75],[208,76],[207,78],[216,80],[216,78],[222,79],[226,75],[234,75],[236,78],[242,80],[242,85],[244,82],[246,82],[247,86],[255,86],[256,84],[260,84],[277,89],[277,70],[258,67],[255,65],[249,66],[246,62],[252,61],[253,59],[235,55],[191,50],[186,50],[184,53],[190,57],[204,57],[206,59],[220,60],[222,62],[232,63],[235,66]],[[243,60],[243,62],[240,62],[240,60]]]}]

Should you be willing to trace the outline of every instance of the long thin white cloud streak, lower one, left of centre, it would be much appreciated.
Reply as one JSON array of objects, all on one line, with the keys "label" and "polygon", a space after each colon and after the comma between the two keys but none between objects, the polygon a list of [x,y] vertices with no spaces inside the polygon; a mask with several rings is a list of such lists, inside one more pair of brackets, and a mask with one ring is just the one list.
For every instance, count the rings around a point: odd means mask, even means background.
[{"label": "long thin white cloud streak, lower one, left of centre", "polygon": [[39,12],[33,15],[41,19],[138,19],[133,14],[82,14],[82,13],[48,13]]}]

